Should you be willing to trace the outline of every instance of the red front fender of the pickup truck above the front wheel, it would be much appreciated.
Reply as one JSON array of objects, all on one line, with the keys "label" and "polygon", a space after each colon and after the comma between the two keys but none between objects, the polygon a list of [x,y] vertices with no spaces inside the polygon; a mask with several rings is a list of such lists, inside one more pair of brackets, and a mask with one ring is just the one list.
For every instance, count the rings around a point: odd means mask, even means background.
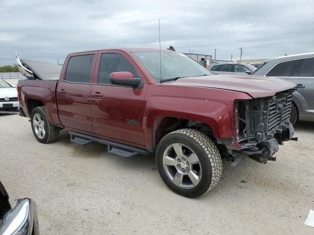
[{"label": "red front fender of the pickup truck above the front wheel", "polygon": [[[144,129],[146,146],[154,145],[154,134],[163,118],[180,118],[209,125],[215,138],[232,137],[233,105],[217,101],[190,98],[151,97],[147,102]],[[165,110],[165,107],[167,109]],[[155,130],[154,130],[155,129]]]}]

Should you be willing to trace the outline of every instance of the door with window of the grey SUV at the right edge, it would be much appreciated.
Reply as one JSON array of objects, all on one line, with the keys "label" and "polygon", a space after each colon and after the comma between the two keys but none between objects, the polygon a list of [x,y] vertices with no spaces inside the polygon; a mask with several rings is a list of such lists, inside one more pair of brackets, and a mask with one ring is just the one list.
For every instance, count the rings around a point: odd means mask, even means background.
[{"label": "door with window of the grey SUV at the right edge", "polygon": [[302,96],[301,119],[314,120],[314,57],[302,59],[288,81],[298,85],[296,93]]}]

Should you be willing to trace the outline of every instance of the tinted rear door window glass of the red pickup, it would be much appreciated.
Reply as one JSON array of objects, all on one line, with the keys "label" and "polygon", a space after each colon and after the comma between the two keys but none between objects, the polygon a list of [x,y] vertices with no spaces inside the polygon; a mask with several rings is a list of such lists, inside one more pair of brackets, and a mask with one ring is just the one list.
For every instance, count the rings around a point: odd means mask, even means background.
[{"label": "tinted rear door window glass of the red pickup", "polygon": [[68,82],[89,83],[94,54],[72,56],[68,62],[65,80]]}]

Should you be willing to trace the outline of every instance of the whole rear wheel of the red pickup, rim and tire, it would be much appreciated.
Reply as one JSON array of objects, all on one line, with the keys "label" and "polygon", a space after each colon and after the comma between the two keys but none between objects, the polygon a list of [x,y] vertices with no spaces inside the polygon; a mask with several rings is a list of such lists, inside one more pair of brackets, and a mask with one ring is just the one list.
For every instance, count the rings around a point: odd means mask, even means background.
[{"label": "whole rear wheel of the red pickup, rim and tire", "polygon": [[31,113],[31,128],[37,141],[50,143],[59,137],[57,130],[47,117],[45,107],[36,107]]}]

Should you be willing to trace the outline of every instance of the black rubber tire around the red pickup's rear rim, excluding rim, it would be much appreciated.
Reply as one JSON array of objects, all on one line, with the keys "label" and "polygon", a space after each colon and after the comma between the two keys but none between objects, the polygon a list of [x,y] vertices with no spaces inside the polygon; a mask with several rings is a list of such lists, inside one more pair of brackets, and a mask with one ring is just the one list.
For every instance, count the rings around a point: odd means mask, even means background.
[{"label": "black rubber tire around the red pickup's rear rim, excluding rim", "polygon": [[[36,130],[35,130],[35,127],[34,127],[34,117],[35,117],[35,115],[36,116],[40,115],[40,117],[42,118],[42,120],[44,122],[43,129],[45,130],[45,135],[43,135],[42,138],[40,138],[36,134]],[[31,123],[31,129],[32,129],[33,134],[34,134],[35,138],[37,139],[37,141],[39,141],[41,143],[50,143],[50,142],[56,141],[58,139],[58,137],[59,137],[59,130],[56,127],[54,127],[52,125],[52,123],[50,122],[50,120],[48,119],[45,107],[40,106],[40,107],[36,107],[36,108],[33,109],[33,111],[31,112],[30,123]]]}]

